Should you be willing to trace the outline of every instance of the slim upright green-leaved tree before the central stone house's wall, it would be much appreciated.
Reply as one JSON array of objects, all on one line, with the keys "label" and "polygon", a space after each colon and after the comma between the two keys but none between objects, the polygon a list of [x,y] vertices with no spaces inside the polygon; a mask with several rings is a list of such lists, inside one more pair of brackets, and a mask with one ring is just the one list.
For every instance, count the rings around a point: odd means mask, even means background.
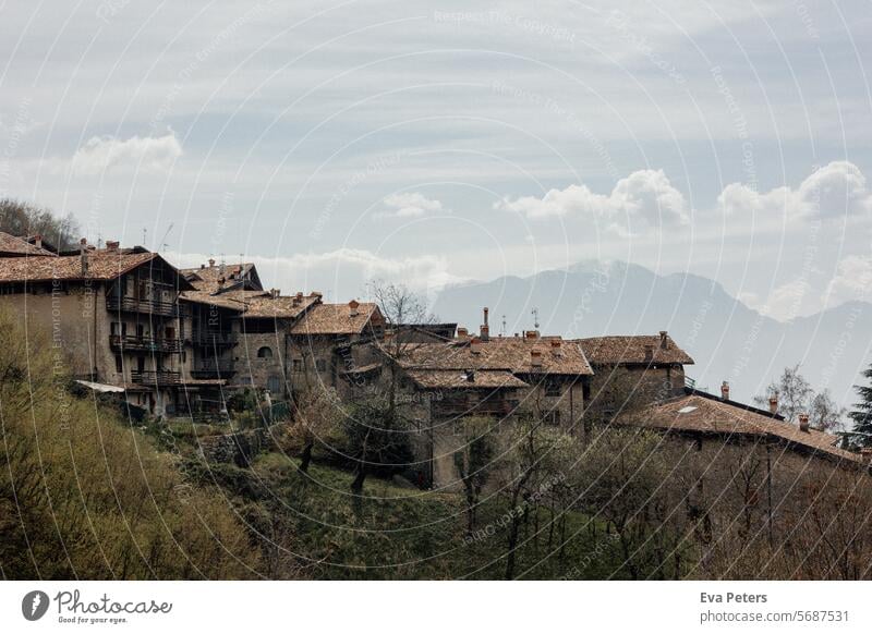
[{"label": "slim upright green-leaved tree before the central stone house's wall", "polygon": [[482,489],[495,466],[496,438],[491,418],[470,416],[461,423],[464,442],[453,459],[467,497],[467,533],[472,535]]}]

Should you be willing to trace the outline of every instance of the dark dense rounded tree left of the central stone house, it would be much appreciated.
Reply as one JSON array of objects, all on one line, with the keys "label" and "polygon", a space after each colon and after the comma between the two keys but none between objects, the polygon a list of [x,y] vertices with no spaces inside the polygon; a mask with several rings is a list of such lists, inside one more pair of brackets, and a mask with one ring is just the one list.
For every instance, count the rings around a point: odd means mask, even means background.
[{"label": "dark dense rounded tree left of the central stone house", "polygon": [[351,407],[343,420],[349,453],[354,460],[351,491],[360,495],[372,472],[397,473],[414,460],[409,425],[385,398],[372,395]]}]

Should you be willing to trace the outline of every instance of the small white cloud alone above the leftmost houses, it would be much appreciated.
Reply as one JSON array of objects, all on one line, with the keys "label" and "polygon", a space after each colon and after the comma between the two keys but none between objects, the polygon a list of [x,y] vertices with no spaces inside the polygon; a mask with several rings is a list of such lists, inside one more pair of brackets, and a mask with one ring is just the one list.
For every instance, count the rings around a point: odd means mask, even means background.
[{"label": "small white cloud alone above the leftmost houses", "polygon": [[73,171],[99,174],[119,168],[167,171],[182,156],[182,146],[170,132],[164,136],[93,136],[73,156]]}]

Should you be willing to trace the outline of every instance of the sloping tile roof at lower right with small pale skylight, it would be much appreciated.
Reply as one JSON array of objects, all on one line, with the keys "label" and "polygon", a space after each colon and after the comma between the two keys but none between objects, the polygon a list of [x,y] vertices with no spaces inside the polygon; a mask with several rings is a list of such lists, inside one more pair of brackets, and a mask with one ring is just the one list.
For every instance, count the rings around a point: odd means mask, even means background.
[{"label": "sloping tile roof at lower right with small pale skylight", "polygon": [[869,464],[860,454],[835,447],[838,439],[832,434],[816,429],[802,431],[796,425],[746,410],[710,394],[691,393],[652,405],[642,417],[641,424],[674,431],[774,438],[829,458]]}]

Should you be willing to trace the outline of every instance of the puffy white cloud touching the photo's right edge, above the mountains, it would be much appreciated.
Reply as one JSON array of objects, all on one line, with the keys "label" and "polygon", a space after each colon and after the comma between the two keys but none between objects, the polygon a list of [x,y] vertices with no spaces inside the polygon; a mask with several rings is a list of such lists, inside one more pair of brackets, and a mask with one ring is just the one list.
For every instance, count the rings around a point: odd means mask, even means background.
[{"label": "puffy white cloud touching the photo's right edge, above the mountains", "polygon": [[834,219],[872,210],[865,176],[849,161],[834,161],[809,175],[799,187],[776,187],[759,193],[741,183],[724,187],[718,207],[728,216]]}]

